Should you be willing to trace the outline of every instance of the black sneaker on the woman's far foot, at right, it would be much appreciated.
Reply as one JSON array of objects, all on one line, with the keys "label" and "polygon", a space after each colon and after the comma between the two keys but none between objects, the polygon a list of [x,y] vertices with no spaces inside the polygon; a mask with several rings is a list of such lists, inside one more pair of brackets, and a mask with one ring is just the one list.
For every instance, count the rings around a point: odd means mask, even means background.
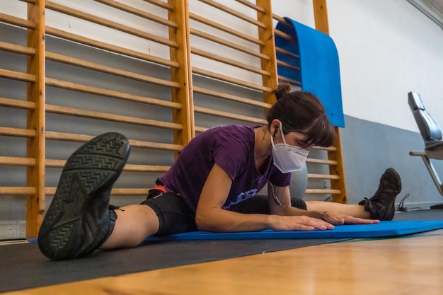
[{"label": "black sneaker on the woman's far foot, at right", "polygon": [[401,179],[397,171],[388,168],[380,178],[379,189],[370,199],[364,198],[359,205],[371,213],[372,219],[392,220],[396,212],[394,202],[401,191]]}]

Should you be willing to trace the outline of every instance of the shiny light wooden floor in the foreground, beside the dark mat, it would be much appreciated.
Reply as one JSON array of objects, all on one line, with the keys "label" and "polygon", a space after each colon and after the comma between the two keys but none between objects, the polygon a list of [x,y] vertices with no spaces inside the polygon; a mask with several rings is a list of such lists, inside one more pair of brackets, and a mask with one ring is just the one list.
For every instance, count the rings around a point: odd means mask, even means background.
[{"label": "shiny light wooden floor in the foreground, beside the dark mat", "polygon": [[443,229],[360,239],[5,294],[443,294]]}]

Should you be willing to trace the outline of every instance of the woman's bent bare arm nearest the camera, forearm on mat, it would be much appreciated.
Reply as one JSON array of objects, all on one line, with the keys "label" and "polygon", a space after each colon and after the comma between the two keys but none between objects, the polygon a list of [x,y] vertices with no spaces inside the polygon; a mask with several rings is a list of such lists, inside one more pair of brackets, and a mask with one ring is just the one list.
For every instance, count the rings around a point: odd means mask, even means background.
[{"label": "woman's bent bare arm nearest the camera, forearm on mat", "polygon": [[[232,180],[217,164],[209,173],[197,205],[195,221],[200,231],[234,232],[261,231],[310,231],[332,229],[321,219],[308,216],[279,216],[275,214],[241,214],[222,209],[231,190]],[[289,201],[290,205],[290,201]]]}]

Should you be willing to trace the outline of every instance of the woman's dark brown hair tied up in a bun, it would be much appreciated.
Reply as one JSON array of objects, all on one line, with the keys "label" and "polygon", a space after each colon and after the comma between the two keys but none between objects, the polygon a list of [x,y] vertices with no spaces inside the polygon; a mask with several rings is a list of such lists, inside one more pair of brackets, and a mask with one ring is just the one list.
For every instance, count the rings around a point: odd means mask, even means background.
[{"label": "woman's dark brown hair tied up in a bun", "polygon": [[306,144],[328,147],[335,140],[335,130],[328,120],[321,101],[310,92],[292,91],[284,83],[274,91],[277,102],[267,113],[267,124],[282,122],[283,134],[298,132],[305,135]]}]

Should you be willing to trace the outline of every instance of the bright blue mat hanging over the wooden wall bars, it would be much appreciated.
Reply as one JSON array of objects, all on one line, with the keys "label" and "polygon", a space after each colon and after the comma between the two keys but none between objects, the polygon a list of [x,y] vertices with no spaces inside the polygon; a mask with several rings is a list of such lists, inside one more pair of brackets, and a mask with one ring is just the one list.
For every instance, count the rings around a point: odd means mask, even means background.
[{"label": "bright blue mat hanging over the wooden wall bars", "polygon": [[328,112],[330,122],[337,127],[345,127],[340,84],[340,66],[335,43],[329,35],[306,25],[284,18],[277,23],[277,30],[293,37],[287,40],[275,35],[275,45],[293,55],[277,51],[277,59],[297,67],[299,70],[278,66],[278,74],[300,81],[301,90],[317,96]]}]

